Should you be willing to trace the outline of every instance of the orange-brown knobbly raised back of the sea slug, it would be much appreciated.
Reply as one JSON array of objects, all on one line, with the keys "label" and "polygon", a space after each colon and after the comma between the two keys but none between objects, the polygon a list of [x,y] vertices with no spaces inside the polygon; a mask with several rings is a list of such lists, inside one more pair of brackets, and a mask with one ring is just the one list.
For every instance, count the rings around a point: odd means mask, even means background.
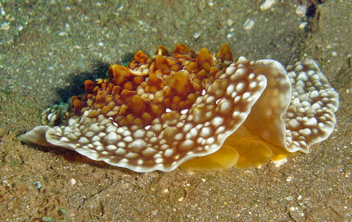
[{"label": "orange-brown knobbly raised back of the sea slug", "polygon": [[[157,56],[149,58],[143,51],[134,54],[127,67],[111,65],[108,79],[87,80],[86,93],[73,97],[75,114],[93,110],[91,117],[103,114],[119,125],[150,125],[167,109],[189,109],[206,82],[213,82],[219,68],[208,49],[199,54],[178,44],[172,55],[159,46]],[[216,58],[232,60],[228,44],[224,44]]]}]

